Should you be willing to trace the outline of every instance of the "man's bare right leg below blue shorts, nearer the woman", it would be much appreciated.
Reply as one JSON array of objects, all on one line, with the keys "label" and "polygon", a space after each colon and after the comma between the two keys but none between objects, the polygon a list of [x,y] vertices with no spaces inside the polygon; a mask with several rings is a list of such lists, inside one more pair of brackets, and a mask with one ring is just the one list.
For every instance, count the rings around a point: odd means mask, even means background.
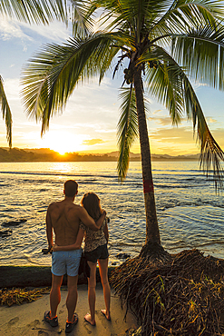
[{"label": "man's bare right leg below blue shorts, nearer the woman", "polygon": [[78,275],[69,276],[68,275],[68,295],[66,300],[66,307],[68,310],[68,321],[73,321],[73,313],[76,308],[78,292],[77,292],[77,283],[78,283]]}]

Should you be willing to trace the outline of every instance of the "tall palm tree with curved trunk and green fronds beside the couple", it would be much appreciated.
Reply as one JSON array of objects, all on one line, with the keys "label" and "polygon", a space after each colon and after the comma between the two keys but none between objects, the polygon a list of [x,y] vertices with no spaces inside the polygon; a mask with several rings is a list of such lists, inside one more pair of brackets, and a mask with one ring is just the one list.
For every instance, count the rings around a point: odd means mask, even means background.
[{"label": "tall palm tree with curved trunk and green fronds beside the couple", "polygon": [[[42,121],[62,111],[75,86],[108,71],[123,70],[121,119],[118,123],[118,173],[126,176],[131,144],[140,137],[146,242],[161,243],[151,174],[151,151],[144,91],[170,111],[172,124],[183,114],[197,129],[200,163],[220,186],[224,153],[215,142],[189,78],[224,88],[224,26],[219,1],[86,0],[82,25],[88,29],[65,44],[47,44],[26,64],[23,101],[26,112]],[[90,30],[92,15],[101,13],[103,29]],[[99,12],[97,12],[99,13]],[[84,27],[84,25],[83,25]],[[115,62],[115,64],[114,64]],[[187,75],[188,74],[188,75]],[[144,86],[144,87],[143,87]]]}]

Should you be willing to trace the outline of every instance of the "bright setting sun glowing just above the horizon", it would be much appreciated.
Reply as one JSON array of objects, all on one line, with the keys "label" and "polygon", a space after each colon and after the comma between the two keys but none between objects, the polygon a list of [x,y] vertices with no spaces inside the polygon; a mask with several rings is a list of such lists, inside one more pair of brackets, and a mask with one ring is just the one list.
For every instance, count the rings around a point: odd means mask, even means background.
[{"label": "bright setting sun glowing just above the horizon", "polygon": [[44,134],[44,148],[50,148],[54,152],[64,153],[79,152],[82,150],[83,136],[65,131],[51,131]]}]

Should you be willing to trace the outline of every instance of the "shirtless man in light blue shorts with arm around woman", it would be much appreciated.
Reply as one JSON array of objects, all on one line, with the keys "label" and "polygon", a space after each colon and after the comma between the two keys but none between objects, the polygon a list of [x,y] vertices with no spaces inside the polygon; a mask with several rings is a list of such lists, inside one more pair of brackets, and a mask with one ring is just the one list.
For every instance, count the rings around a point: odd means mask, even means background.
[{"label": "shirtless man in light blue shorts with arm around woman", "polygon": [[[46,235],[48,248],[53,246],[53,231],[55,234],[55,243],[57,245],[70,245],[76,241],[79,232],[79,223],[98,231],[105,217],[105,212],[101,218],[94,222],[88,212],[80,206],[73,203],[75,195],[78,193],[78,183],[73,180],[64,183],[64,199],[60,202],[51,203],[46,213]],[[82,230],[80,231],[82,232]],[[78,240],[80,240],[78,238]],[[83,237],[81,237],[80,245]],[[51,311],[44,312],[44,321],[50,323],[52,327],[58,325],[56,315],[58,304],[61,301],[61,285],[63,274],[67,273],[68,295],[66,307],[68,319],[66,321],[65,332],[73,331],[74,325],[78,321],[78,316],[74,313],[77,302],[77,282],[78,270],[82,249],[73,251],[53,252],[52,255],[52,289],[50,292]]]}]

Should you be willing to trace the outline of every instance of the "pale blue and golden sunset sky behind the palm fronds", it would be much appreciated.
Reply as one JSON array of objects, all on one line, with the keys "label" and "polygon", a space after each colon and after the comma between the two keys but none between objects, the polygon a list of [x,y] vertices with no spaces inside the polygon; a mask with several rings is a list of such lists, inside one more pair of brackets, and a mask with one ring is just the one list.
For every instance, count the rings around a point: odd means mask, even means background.
[{"label": "pale blue and golden sunset sky behind the palm fronds", "polygon": [[[79,85],[64,106],[63,114],[56,114],[51,119],[49,131],[43,137],[41,124],[36,124],[24,113],[20,94],[24,64],[43,44],[63,44],[71,36],[70,29],[60,22],[46,26],[28,25],[0,15],[0,74],[13,114],[13,147],[50,148],[59,153],[110,153],[118,150],[116,132],[122,74],[114,79],[111,73],[107,74],[101,85],[96,78],[91,83]],[[204,84],[192,84],[209,129],[224,150],[224,93]],[[151,153],[199,153],[192,123],[183,117],[178,127],[172,126],[169,112],[154,98],[148,97],[148,100]],[[1,119],[0,147],[7,147],[5,122]],[[131,152],[140,153],[139,140],[132,145]]]}]

